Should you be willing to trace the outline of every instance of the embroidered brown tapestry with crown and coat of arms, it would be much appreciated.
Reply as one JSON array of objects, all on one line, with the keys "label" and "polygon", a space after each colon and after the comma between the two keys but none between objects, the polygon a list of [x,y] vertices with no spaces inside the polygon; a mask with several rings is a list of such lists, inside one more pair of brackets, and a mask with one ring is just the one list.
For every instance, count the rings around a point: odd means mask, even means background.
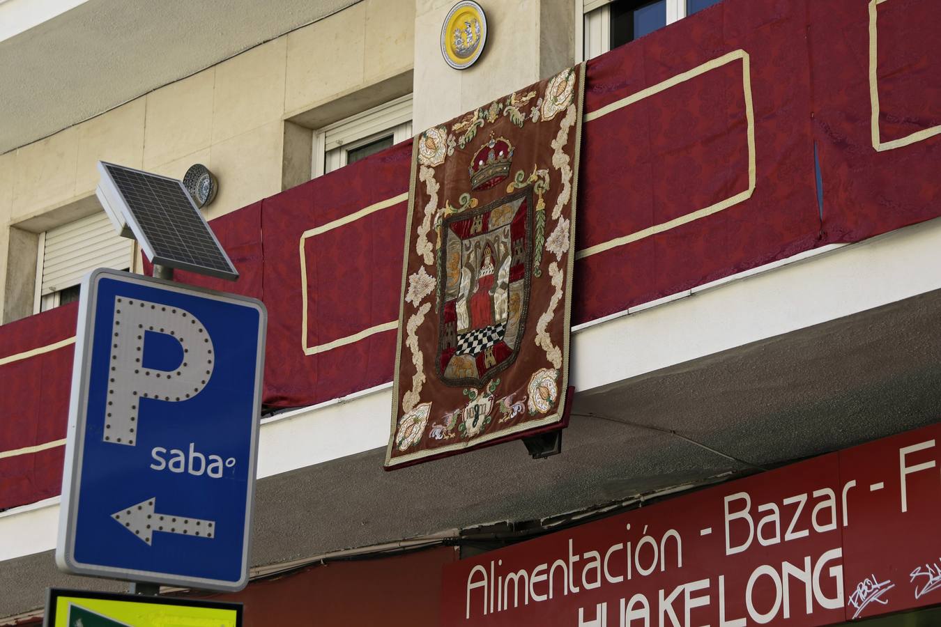
[{"label": "embroidered brown tapestry with crown and coat of arms", "polygon": [[560,427],[583,70],[415,140],[387,467]]}]

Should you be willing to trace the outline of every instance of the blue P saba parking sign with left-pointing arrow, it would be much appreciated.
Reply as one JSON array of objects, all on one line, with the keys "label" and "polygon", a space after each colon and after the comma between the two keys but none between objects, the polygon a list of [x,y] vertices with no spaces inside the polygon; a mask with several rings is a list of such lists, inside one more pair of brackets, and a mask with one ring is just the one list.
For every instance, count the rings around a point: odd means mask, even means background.
[{"label": "blue P saba parking sign with left-pointing arrow", "polygon": [[85,277],[59,568],[245,587],[266,321],[243,296],[107,269]]}]

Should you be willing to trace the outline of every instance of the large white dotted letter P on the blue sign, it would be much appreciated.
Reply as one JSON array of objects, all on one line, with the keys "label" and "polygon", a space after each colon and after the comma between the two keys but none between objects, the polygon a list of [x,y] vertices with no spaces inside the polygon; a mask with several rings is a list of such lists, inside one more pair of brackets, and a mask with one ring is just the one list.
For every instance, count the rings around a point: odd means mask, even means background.
[{"label": "large white dotted letter P on the blue sign", "polygon": [[[183,361],[170,370],[144,368],[147,332],[175,338]],[[213,376],[213,340],[193,314],[119,297],[111,328],[111,364],[104,441],[134,446],[141,399],[177,402],[199,394]]]}]

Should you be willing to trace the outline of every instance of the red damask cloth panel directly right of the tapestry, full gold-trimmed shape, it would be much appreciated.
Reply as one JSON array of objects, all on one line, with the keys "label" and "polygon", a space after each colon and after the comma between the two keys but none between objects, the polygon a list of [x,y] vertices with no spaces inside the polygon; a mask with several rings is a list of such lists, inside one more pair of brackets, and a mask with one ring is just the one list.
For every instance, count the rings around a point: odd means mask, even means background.
[{"label": "red damask cloth panel directly right of the tapestry, full gold-trimmed shape", "polygon": [[821,244],[807,7],[724,0],[588,62],[574,321]]}]

